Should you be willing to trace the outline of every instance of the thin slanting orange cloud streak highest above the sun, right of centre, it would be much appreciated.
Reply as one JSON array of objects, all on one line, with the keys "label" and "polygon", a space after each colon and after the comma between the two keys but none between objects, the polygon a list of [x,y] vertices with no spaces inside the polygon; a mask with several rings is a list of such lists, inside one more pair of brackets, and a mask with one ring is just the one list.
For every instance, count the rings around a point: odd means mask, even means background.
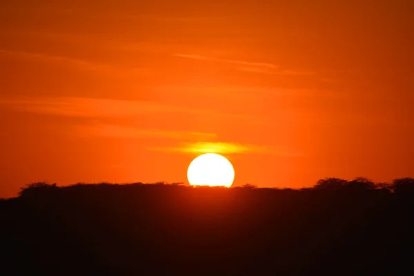
[{"label": "thin slanting orange cloud streak highest above the sun, right of centre", "polygon": [[197,59],[201,61],[214,61],[219,63],[234,64],[237,66],[236,70],[245,72],[255,72],[270,75],[286,75],[286,76],[299,76],[299,75],[314,75],[313,72],[299,71],[299,70],[286,70],[282,69],[279,65],[274,63],[266,62],[253,62],[235,59],[219,59],[215,57],[206,57],[203,55],[192,55],[192,54],[175,54],[175,57],[182,57],[186,59]]}]

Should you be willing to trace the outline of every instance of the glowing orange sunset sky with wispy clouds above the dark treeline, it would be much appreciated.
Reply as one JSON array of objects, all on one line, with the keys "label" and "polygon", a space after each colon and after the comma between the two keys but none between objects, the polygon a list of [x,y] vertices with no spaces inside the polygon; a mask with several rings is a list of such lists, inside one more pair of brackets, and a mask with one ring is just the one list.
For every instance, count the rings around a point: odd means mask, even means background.
[{"label": "glowing orange sunset sky with wispy clouds above the dark treeline", "polygon": [[32,181],[414,176],[411,1],[6,0],[0,197]]}]

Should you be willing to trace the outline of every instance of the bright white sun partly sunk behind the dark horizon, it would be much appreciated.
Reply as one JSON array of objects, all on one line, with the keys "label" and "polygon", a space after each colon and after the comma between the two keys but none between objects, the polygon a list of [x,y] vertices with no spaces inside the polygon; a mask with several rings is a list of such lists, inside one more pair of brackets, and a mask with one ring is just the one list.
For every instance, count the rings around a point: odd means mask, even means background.
[{"label": "bright white sun partly sunk behind the dark horizon", "polygon": [[188,166],[187,178],[193,186],[230,187],[235,179],[235,170],[226,157],[206,153],[196,157]]}]

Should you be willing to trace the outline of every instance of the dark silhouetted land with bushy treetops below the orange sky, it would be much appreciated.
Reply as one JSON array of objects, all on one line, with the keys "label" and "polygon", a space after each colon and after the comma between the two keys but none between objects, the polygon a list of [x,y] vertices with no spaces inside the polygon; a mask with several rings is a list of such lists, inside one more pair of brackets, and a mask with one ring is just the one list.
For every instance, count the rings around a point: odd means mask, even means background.
[{"label": "dark silhouetted land with bushy treetops below the orange sky", "polygon": [[34,183],[0,201],[0,274],[413,275],[413,211],[412,178]]}]

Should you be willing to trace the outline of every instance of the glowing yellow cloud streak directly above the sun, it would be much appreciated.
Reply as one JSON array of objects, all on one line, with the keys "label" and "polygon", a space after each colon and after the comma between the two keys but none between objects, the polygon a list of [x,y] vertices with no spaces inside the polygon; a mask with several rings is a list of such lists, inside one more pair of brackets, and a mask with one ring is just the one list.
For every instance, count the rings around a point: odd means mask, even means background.
[{"label": "glowing yellow cloud streak directly above the sun", "polygon": [[258,146],[253,144],[238,144],[228,142],[197,141],[194,143],[184,143],[177,147],[151,147],[149,150],[168,151],[168,152],[190,152],[190,153],[266,153],[280,156],[302,156],[299,152],[294,152],[283,147]]}]

